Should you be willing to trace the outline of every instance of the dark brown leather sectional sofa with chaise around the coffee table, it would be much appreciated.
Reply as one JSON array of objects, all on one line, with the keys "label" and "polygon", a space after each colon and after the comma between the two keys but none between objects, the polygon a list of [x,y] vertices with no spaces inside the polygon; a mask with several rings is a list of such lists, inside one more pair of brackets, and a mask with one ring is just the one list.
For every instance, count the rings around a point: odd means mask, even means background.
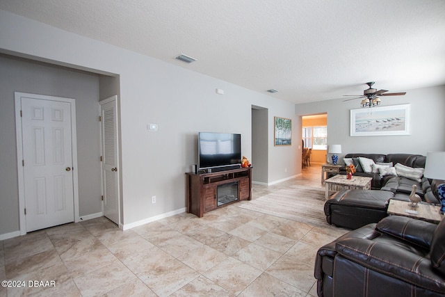
[{"label": "dark brown leather sectional sofa with chaise around the coffee table", "polygon": [[[347,154],[345,158],[356,161],[355,159],[359,156],[373,159],[375,163],[391,162],[394,165],[401,163],[411,168],[424,168],[426,161],[426,156],[419,154]],[[371,190],[343,190],[332,195],[325,202],[324,207],[327,223],[349,229],[377,223],[387,216],[389,200],[410,201],[409,196],[413,184],[416,184],[416,193],[423,202],[440,204],[437,185],[444,181],[422,177],[419,182],[406,177],[380,176],[378,173],[366,173],[359,170],[354,175],[373,177]]]}]

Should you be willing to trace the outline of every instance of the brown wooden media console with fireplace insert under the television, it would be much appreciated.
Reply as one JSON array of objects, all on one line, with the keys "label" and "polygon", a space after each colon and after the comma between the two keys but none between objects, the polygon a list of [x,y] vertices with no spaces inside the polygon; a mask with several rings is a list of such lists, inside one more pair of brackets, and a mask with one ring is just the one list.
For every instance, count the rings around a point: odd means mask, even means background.
[{"label": "brown wooden media console with fireplace insert under the television", "polygon": [[[218,187],[237,185],[238,198],[220,202]],[[236,186],[234,186],[236,187]],[[202,217],[207,211],[240,200],[252,199],[252,168],[238,168],[211,173],[186,172],[187,212]]]}]

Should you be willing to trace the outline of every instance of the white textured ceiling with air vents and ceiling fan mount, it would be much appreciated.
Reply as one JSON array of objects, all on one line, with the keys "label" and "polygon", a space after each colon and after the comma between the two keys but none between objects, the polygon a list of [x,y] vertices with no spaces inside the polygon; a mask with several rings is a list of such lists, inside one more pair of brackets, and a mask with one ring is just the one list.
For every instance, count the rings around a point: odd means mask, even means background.
[{"label": "white textured ceiling with air vents and ceiling fan mount", "polygon": [[296,103],[361,95],[368,81],[390,93],[445,85],[444,0],[0,0],[0,9]]}]

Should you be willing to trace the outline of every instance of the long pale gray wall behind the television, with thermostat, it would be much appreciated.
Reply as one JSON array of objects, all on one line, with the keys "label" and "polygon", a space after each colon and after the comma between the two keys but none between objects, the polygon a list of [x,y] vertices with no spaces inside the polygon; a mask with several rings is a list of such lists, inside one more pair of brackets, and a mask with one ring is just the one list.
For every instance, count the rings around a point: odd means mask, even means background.
[{"label": "long pale gray wall behind the television, with thermostat", "polygon": [[[242,154],[250,158],[252,104],[269,110],[270,140],[274,115],[296,122],[289,102],[3,10],[0,36],[0,51],[9,54],[119,75],[124,227],[184,210],[184,172],[197,163],[198,131],[242,134]],[[216,88],[225,95],[216,94]],[[159,131],[147,131],[149,123],[159,125]],[[293,129],[293,139],[299,129]],[[300,172],[298,143],[273,147],[270,142],[270,181]]]}]

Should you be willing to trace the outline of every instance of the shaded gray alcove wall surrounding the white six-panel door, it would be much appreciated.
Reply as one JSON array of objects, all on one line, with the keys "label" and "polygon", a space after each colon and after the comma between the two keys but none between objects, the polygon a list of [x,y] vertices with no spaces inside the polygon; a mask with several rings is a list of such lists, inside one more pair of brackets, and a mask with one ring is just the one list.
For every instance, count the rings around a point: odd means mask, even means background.
[{"label": "shaded gray alcove wall surrounding the white six-panel door", "polygon": [[0,234],[19,230],[14,92],[76,99],[79,214],[102,211],[99,77],[0,54]]}]

